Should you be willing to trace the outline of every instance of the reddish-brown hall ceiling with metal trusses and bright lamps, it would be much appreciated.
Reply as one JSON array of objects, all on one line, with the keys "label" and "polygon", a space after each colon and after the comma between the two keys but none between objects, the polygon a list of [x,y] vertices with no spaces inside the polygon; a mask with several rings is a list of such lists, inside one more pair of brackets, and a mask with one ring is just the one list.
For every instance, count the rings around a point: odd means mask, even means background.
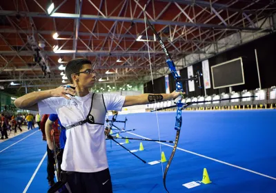
[{"label": "reddish-brown hall ceiling with metal trusses and bright lamps", "polygon": [[146,41],[145,4],[174,61],[215,55],[218,50],[205,48],[233,33],[272,32],[256,23],[276,8],[272,0],[1,1],[0,88],[14,95],[56,88],[68,81],[62,75],[66,62],[79,57],[95,63],[99,85],[145,83],[150,61],[154,77],[168,74],[162,70],[165,54],[149,28]]}]

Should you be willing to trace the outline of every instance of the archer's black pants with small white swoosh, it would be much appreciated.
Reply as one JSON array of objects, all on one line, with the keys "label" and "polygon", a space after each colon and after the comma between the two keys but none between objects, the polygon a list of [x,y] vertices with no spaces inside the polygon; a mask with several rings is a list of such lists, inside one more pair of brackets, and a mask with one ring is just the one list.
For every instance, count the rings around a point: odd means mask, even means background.
[{"label": "archer's black pants with small white swoosh", "polygon": [[67,181],[72,193],[112,193],[109,169],[101,172],[70,172]]}]

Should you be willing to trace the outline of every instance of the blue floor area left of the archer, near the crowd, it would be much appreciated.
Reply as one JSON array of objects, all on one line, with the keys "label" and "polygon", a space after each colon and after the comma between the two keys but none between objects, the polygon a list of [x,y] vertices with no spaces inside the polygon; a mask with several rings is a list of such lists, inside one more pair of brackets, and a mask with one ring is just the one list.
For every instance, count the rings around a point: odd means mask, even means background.
[{"label": "blue floor area left of the archer, near the crowd", "polygon": [[[26,136],[28,137],[23,139]],[[23,140],[17,143],[21,139]],[[16,144],[12,145],[14,143]],[[12,146],[8,148],[10,145]],[[5,148],[8,149],[4,150]],[[4,150],[0,153],[1,192],[23,192],[46,152],[46,142],[41,141],[41,131],[30,130],[4,141],[0,143],[1,150]]]}]

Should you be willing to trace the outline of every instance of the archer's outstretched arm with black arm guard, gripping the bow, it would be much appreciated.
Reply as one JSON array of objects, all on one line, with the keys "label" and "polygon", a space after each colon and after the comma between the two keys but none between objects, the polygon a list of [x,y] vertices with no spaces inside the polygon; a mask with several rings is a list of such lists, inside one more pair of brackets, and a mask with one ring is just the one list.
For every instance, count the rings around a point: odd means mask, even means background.
[{"label": "archer's outstretched arm with black arm guard, gripping the bow", "polygon": [[185,94],[184,92],[172,92],[170,94],[140,94],[137,96],[126,96],[123,107],[132,105],[144,105],[148,103],[155,103],[155,101],[168,101],[177,98],[177,96]]}]

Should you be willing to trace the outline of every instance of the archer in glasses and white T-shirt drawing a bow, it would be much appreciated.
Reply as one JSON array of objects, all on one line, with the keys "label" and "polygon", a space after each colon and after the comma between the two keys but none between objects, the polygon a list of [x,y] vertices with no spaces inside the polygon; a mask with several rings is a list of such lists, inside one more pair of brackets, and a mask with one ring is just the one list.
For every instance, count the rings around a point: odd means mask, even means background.
[{"label": "archer in glasses and white T-shirt drawing a bow", "polygon": [[70,84],[26,94],[14,105],[39,114],[58,114],[67,136],[61,170],[66,173],[71,192],[112,192],[104,134],[106,112],[167,101],[184,93],[120,96],[90,92],[96,74],[88,59],[69,61],[65,72]]}]

